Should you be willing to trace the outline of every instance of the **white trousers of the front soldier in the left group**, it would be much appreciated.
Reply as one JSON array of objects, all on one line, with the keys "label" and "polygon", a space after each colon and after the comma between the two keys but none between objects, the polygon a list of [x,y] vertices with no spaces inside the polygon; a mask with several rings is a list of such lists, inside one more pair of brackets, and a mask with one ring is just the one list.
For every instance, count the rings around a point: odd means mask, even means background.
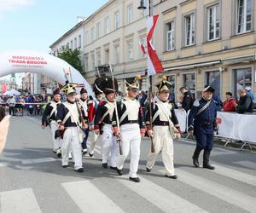
[{"label": "white trousers of the front soldier in the left group", "polygon": [[68,164],[68,154],[73,153],[74,168],[78,170],[83,167],[82,164],[82,147],[79,142],[79,130],[77,127],[67,127],[63,135],[61,146],[62,165]]}]

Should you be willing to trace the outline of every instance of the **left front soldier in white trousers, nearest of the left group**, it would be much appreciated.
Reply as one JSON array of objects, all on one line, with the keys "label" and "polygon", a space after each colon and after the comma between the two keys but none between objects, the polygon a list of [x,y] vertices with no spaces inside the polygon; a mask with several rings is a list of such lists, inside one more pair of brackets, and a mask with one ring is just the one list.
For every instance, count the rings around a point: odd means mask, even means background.
[{"label": "left front soldier in white trousers, nearest of the left group", "polygon": [[68,154],[71,150],[74,159],[74,169],[78,172],[83,172],[82,164],[82,147],[79,141],[81,118],[79,117],[78,105],[76,101],[76,89],[70,87],[66,90],[67,101],[63,102],[58,107],[57,123],[59,129],[63,133],[63,141],[61,145],[62,167],[67,168]]}]

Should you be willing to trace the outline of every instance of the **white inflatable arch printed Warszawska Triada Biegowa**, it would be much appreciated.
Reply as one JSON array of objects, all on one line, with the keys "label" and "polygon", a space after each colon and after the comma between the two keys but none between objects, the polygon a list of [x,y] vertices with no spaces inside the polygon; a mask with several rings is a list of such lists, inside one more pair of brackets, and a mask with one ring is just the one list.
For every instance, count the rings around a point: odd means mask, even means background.
[{"label": "white inflatable arch printed Warszawska Triada Biegowa", "polygon": [[17,72],[33,72],[49,76],[63,85],[67,80],[64,72],[67,71],[69,71],[67,75],[69,82],[84,83],[88,94],[93,96],[90,83],[85,80],[81,73],[54,55],[27,50],[0,53],[0,77]]}]

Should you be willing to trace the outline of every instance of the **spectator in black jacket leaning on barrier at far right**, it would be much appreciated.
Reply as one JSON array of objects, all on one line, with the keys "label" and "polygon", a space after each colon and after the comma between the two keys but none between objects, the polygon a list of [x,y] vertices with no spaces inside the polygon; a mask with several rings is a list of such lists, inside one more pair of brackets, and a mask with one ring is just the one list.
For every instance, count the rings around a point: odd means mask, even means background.
[{"label": "spectator in black jacket leaning on barrier at far right", "polygon": [[238,90],[240,95],[240,100],[238,104],[236,104],[236,111],[238,113],[246,113],[246,112],[253,112],[253,101],[251,97],[247,95],[247,91],[245,89]]}]

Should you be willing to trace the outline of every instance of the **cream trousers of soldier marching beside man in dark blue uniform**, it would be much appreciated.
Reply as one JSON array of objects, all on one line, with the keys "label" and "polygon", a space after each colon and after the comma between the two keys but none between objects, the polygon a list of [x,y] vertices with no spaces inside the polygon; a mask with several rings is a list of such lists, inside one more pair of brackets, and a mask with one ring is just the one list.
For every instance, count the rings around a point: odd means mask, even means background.
[{"label": "cream trousers of soldier marching beside man in dark blue uniform", "polygon": [[169,126],[154,126],[154,151],[151,153],[151,149],[148,153],[147,168],[152,169],[157,156],[162,153],[163,163],[166,167],[166,175],[174,176],[174,164],[173,164],[173,140],[169,130]]}]

